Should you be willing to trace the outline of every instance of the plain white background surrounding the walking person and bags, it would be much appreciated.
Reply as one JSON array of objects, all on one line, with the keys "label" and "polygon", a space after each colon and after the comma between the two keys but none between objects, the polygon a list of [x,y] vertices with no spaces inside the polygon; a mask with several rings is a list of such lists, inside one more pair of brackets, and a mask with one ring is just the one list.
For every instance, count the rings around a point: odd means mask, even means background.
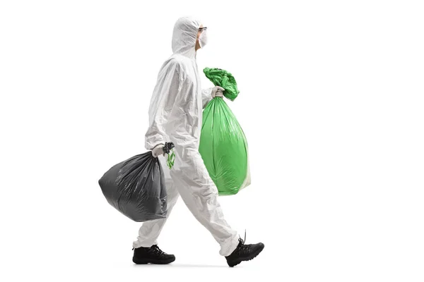
[{"label": "plain white background surrounding the walking person and bags", "polygon": [[[421,4],[1,1],[0,280],[423,281]],[[199,69],[240,88],[227,101],[252,185],[220,202],[265,249],[234,269],[182,200],[159,241],[176,262],[134,265],[140,224],[98,186],[146,152],[148,102],[185,15],[208,27]]]}]

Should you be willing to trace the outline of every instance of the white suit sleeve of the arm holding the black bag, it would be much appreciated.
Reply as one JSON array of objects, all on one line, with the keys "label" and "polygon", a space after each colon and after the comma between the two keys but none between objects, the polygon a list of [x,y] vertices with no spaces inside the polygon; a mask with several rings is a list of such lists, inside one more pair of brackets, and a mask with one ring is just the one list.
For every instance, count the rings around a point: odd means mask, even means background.
[{"label": "white suit sleeve of the arm holding the black bag", "polygon": [[181,92],[181,69],[177,61],[171,60],[160,70],[149,108],[149,125],[145,135],[145,147],[148,150],[159,144],[164,145],[169,140],[165,127],[175,99]]}]

